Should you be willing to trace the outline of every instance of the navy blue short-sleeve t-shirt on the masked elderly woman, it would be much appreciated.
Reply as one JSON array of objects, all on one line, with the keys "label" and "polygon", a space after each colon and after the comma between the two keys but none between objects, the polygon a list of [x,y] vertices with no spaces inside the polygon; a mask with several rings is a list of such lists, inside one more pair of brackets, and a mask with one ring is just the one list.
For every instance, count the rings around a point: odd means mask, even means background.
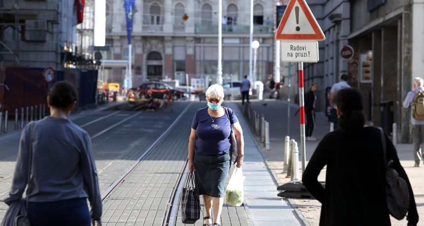
[{"label": "navy blue short-sleeve t-shirt on the masked elderly woman", "polygon": [[208,108],[202,108],[194,114],[191,123],[191,128],[195,129],[197,134],[194,153],[211,156],[223,154],[230,149],[231,125],[239,120],[230,108],[228,115],[225,113],[212,122]]}]

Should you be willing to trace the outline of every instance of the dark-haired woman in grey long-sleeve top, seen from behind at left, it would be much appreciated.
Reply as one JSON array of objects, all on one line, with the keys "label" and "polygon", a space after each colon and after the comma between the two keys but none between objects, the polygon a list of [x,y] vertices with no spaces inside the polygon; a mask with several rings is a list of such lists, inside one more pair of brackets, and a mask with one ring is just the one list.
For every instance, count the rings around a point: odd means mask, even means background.
[{"label": "dark-haired woman in grey long-sleeve top, seen from behind at left", "polygon": [[12,187],[4,202],[20,201],[27,187],[31,226],[101,225],[102,199],[90,136],[68,118],[77,103],[75,86],[56,83],[47,103],[50,116],[22,131]]}]

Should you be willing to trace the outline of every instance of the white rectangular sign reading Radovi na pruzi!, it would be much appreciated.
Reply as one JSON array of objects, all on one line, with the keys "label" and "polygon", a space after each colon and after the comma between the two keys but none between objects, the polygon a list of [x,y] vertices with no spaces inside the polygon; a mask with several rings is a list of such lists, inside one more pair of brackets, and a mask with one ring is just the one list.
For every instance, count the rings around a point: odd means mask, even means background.
[{"label": "white rectangular sign reading Radovi na pruzi!", "polygon": [[281,41],[281,60],[284,62],[318,62],[317,41]]}]

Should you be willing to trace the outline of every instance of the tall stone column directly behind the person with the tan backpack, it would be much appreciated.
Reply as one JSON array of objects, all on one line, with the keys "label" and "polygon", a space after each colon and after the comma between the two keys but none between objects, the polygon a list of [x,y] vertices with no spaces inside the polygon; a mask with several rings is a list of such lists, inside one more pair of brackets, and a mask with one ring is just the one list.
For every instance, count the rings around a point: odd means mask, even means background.
[{"label": "tall stone column directly behind the person with the tan backpack", "polygon": [[[411,6],[405,6],[402,15],[402,101],[412,89],[412,15]],[[402,142],[410,142],[411,112],[402,108]]]}]

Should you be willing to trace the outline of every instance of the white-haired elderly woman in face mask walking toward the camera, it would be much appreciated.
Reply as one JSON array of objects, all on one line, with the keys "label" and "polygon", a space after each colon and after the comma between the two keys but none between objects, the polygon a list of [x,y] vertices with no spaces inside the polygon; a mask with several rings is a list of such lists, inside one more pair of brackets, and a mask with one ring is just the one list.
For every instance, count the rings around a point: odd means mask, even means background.
[{"label": "white-haired elderly woman in face mask walking toward the camera", "polygon": [[203,226],[220,226],[224,186],[231,166],[231,127],[237,141],[238,156],[234,164],[238,168],[243,164],[243,131],[234,111],[221,106],[224,101],[221,85],[211,85],[206,99],[208,107],[198,110],[191,124],[188,163],[189,170],[195,171],[199,195],[203,195],[206,211]]}]

